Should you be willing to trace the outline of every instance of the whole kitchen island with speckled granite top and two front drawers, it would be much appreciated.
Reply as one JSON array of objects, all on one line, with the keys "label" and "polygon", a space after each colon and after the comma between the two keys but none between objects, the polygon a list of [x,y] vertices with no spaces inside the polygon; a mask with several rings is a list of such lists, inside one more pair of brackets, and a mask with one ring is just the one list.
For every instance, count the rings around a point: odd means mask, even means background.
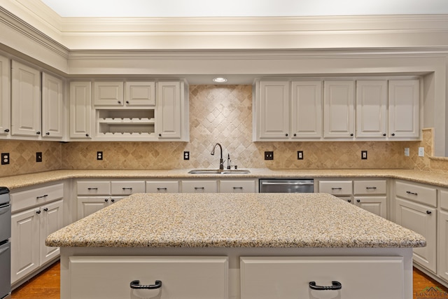
[{"label": "whole kitchen island with speckled granite top and two front drawers", "polygon": [[62,299],[396,299],[426,241],[323,193],[182,193],[131,195],[46,244]]}]

